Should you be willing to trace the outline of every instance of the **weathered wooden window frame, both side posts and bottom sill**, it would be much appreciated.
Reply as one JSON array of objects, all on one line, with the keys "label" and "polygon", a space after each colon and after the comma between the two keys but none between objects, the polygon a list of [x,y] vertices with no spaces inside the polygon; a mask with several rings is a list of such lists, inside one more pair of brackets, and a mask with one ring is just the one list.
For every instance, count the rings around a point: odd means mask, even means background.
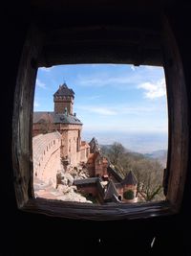
[{"label": "weathered wooden window frame, both side posts and bottom sill", "polygon": [[136,204],[90,205],[34,198],[32,108],[38,59],[43,48],[44,36],[35,27],[31,27],[18,69],[12,118],[14,188],[20,210],[53,217],[96,221],[145,219],[180,211],[188,161],[188,104],[179,49],[166,17],[162,18],[162,24],[163,67],[169,115],[168,158],[164,177],[166,200]]}]

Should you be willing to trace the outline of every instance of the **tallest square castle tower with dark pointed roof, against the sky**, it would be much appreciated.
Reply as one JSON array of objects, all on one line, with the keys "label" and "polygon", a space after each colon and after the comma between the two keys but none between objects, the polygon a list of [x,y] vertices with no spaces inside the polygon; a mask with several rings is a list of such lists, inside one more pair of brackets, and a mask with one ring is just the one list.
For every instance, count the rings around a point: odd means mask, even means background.
[{"label": "tallest square castle tower with dark pointed roof, against the sky", "polygon": [[63,114],[65,109],[73,115],[74,91],[67,84],[59,85],[59,89],[53,94],[54,112]]}]

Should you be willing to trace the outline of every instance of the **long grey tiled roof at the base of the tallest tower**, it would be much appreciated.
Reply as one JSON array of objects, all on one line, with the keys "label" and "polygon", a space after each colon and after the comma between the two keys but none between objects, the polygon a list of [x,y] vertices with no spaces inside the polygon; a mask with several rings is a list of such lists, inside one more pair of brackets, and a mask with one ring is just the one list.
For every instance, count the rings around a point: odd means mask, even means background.
[{"label": "long grey tiled roof at the base of the tallest tower", "polygon": [[81,121],[74,115],[54,112],[33,112],[33,124],[36,123],[82,125]]}]

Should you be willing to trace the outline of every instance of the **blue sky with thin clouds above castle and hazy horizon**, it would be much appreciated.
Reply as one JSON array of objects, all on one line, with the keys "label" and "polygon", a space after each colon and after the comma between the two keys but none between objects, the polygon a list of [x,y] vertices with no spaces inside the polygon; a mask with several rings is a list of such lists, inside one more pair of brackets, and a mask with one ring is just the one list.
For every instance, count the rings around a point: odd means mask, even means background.
[{"label": "blue sky with thin clouds above castle and hazy horizon", "polygon": [[39,68],[34,111],[53,111],[53,93],[63,82],[74,90],[74,112],[84,132],[167,134],[163,68],[124,64]]}]

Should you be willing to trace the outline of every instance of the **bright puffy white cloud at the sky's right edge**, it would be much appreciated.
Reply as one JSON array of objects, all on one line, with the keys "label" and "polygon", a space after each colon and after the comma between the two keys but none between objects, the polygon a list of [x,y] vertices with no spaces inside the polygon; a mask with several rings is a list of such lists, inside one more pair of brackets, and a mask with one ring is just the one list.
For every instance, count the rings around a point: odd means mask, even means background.
[{"label": "bright puffy white cloud at the sky's right edge", "polygon": [[156,99],[166,95],[165,80],[161,79],[155,83],[150,81],[140,83],[138,89],[145,90],[145,98]]}]

